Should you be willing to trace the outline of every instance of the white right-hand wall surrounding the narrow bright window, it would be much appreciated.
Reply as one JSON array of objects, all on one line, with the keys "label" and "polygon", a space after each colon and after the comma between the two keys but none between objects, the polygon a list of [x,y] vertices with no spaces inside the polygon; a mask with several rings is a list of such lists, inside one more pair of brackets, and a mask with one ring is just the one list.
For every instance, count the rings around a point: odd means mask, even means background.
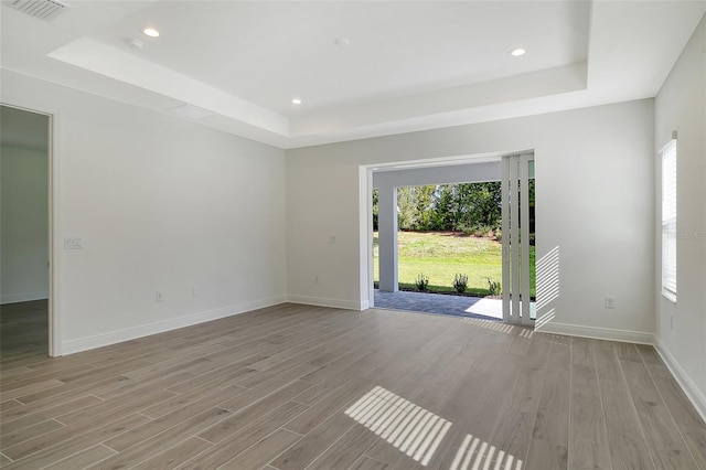
[{"label": "white right-hand wall surrounding the narrow bright window", "polygon": [[[706,416],[706,17],[655,98],[655,148],[677,136],[677,301],[656,295],[656,338]],[[660,189],[661,161],[654,159]],[[657,195],[657,202],[660,195]],[[660,205],[655,226],[659,233]],[[659,239],[659,238],[657,238]],[[661,244],[656,244],[660,284]],[[672,327],[673,321],[673,327]]]}]

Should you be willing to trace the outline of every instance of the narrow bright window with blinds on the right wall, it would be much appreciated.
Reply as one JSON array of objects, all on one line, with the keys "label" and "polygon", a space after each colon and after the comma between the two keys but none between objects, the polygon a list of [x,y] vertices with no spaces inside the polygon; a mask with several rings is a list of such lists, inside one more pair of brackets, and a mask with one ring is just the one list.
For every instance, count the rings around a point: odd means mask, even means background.
[{"label": "narrow bright window with blinds on the right wall", "polygon": [[676,302],[676,140],[662,151],[662,295]]}]

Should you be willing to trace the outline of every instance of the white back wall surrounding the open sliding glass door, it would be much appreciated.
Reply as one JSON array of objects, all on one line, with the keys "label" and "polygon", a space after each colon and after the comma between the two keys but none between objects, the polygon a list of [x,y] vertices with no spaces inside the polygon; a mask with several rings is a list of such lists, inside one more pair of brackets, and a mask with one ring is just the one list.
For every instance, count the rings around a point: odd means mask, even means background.
[{"label": "white back wall surrounding the open sliding glass door", "polygon": [[[547,329],[650,342],[652,99],[288,150],[289,298],[367,305],[361,165],[526,149],[535,151],[537,256],[560,247],[560,297]],[[614,310],[605,296],[616,297]]]}]

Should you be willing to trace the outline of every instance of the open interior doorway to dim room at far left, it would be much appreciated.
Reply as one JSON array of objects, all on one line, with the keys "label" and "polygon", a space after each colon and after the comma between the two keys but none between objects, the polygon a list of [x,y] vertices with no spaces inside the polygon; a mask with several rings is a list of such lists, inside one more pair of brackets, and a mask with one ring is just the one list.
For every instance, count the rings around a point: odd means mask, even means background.
[{"label": "open interior doorway to dim room at far left", "polygon": [[0,106],[0,353],[52,354],[51,116]]}]

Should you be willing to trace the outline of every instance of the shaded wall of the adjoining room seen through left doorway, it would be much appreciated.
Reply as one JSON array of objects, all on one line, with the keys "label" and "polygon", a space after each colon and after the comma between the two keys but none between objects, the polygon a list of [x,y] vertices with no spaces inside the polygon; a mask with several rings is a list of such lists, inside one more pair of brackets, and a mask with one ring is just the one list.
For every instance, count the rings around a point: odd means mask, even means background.
[{"label": "shaded wall of the adjoining room seen through left doorway", "polygon": [[46,151],[0,149],[0,303],[49,295],[47,161]]}]

